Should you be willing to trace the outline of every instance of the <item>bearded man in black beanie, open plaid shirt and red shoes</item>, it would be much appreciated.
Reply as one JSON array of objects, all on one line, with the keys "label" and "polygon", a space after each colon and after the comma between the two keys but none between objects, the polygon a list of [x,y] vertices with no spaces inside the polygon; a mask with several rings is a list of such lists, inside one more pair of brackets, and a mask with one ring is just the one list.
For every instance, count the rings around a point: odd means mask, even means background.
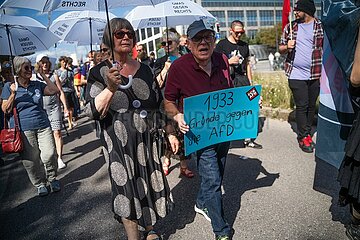
[{"label": "bearded man in black beanie, open plaid shirt and red shoes", "polygon": [[311,126],[320,91],[324,32],[313,0],[295,4],[295,20],[284,28],[279,51],[287,53],[285,73],[296,105],[297,139],[301,150],[314,151]]}]

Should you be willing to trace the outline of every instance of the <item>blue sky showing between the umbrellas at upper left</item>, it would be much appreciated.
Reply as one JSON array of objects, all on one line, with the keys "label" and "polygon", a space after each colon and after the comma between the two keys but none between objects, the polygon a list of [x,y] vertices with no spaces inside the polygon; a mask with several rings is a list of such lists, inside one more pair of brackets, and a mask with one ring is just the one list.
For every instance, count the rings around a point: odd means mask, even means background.
[{"label": "blue sky showing between the umbrellas at upper left", "polygon": [[[36,4],[36,0],[29,0]],[[0,5],[4,2],[4,0],[0,0]],[[133,7],[123,7],[123,8],[116,8],[110,9],[110,12],[113,13],[117,17],[125,17],[126,14],[132,9]],[[50,22],[48,13],[41,13],[35,10],[30,9],[20,9],[20,8],[12,8],[6,9],[5,14],[8,15],[17,15],[17,16],[28,16],[36,19],[40,23],[45,26],[50,26],[51,22],[59,17],[61,14],[65,13],[64,11],[54,11],[50,14]],[[3,12],[1,12],[3,14]],[[94,50],[98,50],[99,46],[93,45]],[[87,53],[90,51],[90,45],[88,46],[77,46],[76,43],[58,43],[55,47],[51,47],[48,51],[43,52],[36,52],[33,56],[29,58],[35,59],[38,54],[45,54],[49,57],[54,57],[58,59],[60,56],[72,56],[74,58],[74,54],[76,55],[77,59],[75,61],[80,61],[81,59],[85,60]]]}]

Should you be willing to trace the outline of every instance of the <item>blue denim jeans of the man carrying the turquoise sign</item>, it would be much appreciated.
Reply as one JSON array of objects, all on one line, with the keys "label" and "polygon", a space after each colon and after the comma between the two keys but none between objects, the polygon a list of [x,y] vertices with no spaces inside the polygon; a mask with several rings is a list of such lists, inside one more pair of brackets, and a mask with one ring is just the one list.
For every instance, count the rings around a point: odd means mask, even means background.
[{"label": "blue denim jeans of the man carrying the turquoise sign", "polygon": [[230,142],[219,143],[197,151],[197,168],[201,178],[196,205],[207,208],[215,235],[229,235],[231,228],[224,219],[221,184]]}]

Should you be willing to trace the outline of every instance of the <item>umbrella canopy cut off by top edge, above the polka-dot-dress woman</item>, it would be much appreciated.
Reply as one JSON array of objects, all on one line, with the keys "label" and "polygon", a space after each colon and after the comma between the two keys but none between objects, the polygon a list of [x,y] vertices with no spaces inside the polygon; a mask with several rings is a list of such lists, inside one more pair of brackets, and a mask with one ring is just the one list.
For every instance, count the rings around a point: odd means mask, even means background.
[{"label": "umbrella canopy cut off by top edge, above the polka-dot-dress woman", "polygon": [[[109,9],[127,6],[155,5],[166,0],[5,0],[0,6],[3,8],[28,8],[41,12],[51,11],[104,11],[106,4]],[[105,4],[106,2],[106,4]]]}]

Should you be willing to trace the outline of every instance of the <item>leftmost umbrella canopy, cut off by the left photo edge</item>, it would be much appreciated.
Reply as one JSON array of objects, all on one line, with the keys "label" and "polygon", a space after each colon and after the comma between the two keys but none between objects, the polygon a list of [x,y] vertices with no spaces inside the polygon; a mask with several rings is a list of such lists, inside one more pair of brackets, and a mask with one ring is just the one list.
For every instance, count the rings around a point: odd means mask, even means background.
[{"label": "leftmost umbrella canopy, cut off by the left photo edge", "polygon": [[25,16],[0,14],[0,55],[22,55],[50,48],[59,41],[40,22]]}]

